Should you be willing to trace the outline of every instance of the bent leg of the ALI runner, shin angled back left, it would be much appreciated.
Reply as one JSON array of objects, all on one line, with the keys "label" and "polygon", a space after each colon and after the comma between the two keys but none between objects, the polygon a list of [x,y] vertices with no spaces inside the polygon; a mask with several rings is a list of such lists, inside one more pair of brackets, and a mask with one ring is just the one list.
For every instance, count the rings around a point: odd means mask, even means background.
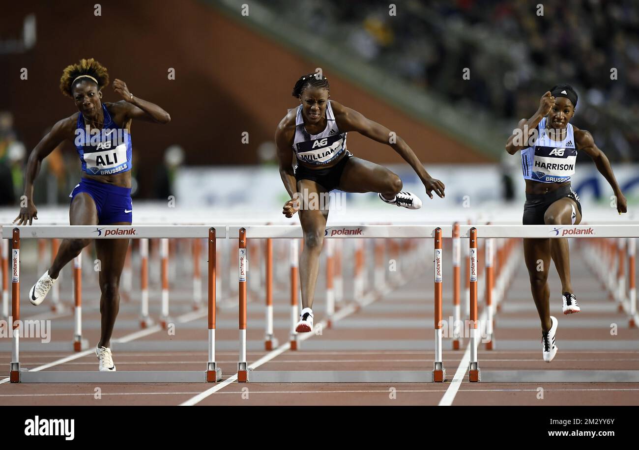
[{"label": "bent leg of the ALI runner, shin angled back left", "polygon": [[[95,202],[88,193],[81,192],[73,197],[69,209],[69,223],[71,225],[97,225],[98,211]],[[73,258],[80,254],[82,249],[91,243],[93,239],[63,239],[60,243],[58,254],[49,269],[51,278],[58,278],[62,267],[66,266]]]}]

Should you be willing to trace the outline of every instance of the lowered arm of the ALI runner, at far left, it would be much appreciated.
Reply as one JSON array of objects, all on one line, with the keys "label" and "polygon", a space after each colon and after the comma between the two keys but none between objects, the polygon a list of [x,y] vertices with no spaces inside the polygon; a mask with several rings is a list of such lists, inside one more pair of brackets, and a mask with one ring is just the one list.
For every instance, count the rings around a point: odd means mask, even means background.
[{"label": "lowered arm of the ALI runner, at far left", "polygon": [[29,154],[27,167],[24,169],[24,195],[26,196],[27,204],[20,207],[20,214],[13,220],[16,225],[27,225],[27,222],[31,225],[33,219],[38,218],[38,210],[33,203],[33,181],[35,181],[38,172],[40,172],[42,160],[49,156],[63,140],[72,137],[74,129],[75,120],[72,117],[62,119],[51,128],[51,131],[38,142],[38,145]]}]

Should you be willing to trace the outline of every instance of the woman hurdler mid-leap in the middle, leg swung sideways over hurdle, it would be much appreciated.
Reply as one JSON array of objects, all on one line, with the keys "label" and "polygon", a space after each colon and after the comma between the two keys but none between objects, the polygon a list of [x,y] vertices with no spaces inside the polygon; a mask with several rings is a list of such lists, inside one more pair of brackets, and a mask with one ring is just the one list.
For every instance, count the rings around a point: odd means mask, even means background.
[{"label": "woman hurdler mid-leap in the middle, leg swung sideways over hurdle", "polygon": [[[309,332],[313,327],[311,308],[328,218],[328,209],[312,208],[303,200],[318,199],[322,194],[339,189],[376,192],[384,202],[408,209],[422,206],[419,197],[402,190],[401,179],[396,174],[357,158],[346,149],[348,131],[358,131],[392,147],[417,172],[431,199],[432,191],[444,196],[443,183],[429,176],[403,139],[399,136],[392,139],[392,133],[385,126],[337,101],[328,100],[329,89],[328,80],[318,73],[300,77],[293,87],[293,96],[300,100],[300,105],[289,110],[275,131],[280,175],[291,196],[282,214],[292,217],[299,211],[304,231],[304,250],[300,257],[302,313],[296,326],[298,333]],[[293,160],[296,161],[295,169]]]}]

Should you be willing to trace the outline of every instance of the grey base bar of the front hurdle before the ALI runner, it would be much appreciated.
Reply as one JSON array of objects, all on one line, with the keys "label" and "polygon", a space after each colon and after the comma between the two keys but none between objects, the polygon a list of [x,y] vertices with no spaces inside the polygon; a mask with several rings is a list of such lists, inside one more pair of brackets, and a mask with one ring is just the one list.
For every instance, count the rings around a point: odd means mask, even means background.
[{"label": "grey base bar of the front hurdle before the ALI runner", "polygon": [[20,383],[201,383],[206,371],[20,371]]}]

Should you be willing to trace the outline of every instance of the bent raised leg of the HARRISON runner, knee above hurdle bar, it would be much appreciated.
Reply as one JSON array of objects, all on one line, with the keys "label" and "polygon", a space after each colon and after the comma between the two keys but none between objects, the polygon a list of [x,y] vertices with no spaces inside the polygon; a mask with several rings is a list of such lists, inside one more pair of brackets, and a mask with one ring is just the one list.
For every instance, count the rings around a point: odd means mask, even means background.
[{"label": "bent raised leg of the HARRISON runner, knee above hurdle bar", "polygon": [[[574,225],[581,222],[581,214],[574,200],[565,197],[551,204],[544,214],[544,223],[546,225],[573,225],[573,207],[576,218]],[[561,280],[562,294],[564,292],[573,293],[573,285],[570,279],[570,253],[568,248],[568,239],[565,237],[559,239],[550,239],[550,252],[552,255],[557,273]]]}]

